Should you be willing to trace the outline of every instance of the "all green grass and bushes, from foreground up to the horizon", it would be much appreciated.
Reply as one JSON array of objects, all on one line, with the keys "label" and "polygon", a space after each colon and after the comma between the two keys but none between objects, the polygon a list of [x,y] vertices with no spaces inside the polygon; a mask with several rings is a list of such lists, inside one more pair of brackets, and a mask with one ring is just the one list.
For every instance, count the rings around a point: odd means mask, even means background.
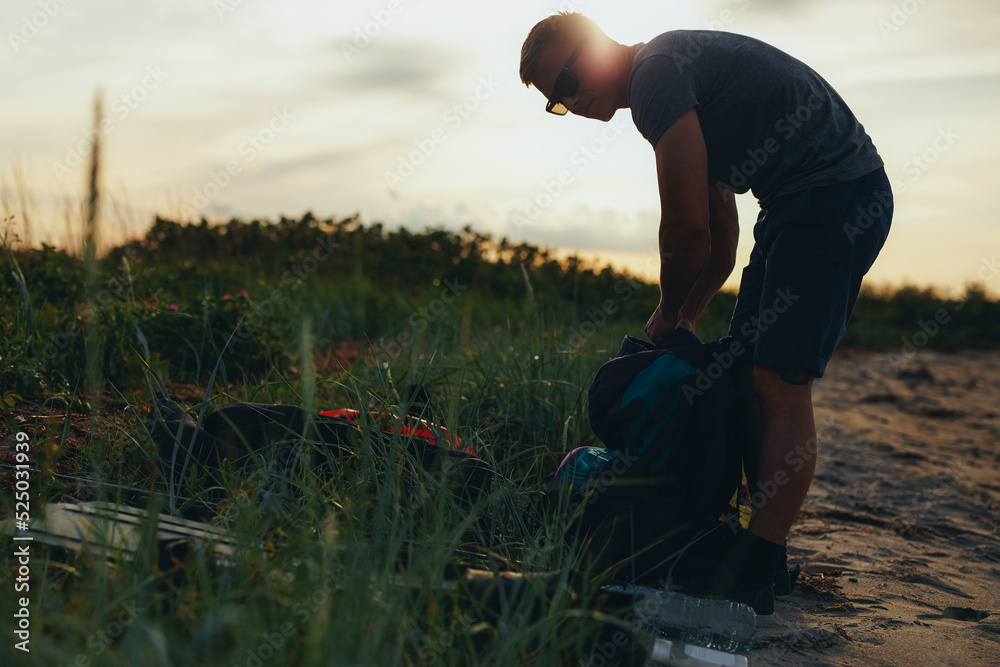
[{"label": "all green grass and bushes, from foreground up to the horizon", "polygon": [[[221,488],[201,480],[195,495],[221,502],[186,509],[200,507],[202,520],[235,537],[231,568],[211,567],[202,552],[165,564],[152,544],[112,567],[36,549],[31,660],[8,637],[3,664],[587,660],[601,619],[580,609],[600,572],[584,568],[572,591],[539,584],[502,622],[443,582],[465,566],[568,577],[577,550],[532,498],[563,453],[595,443],[590,380],[624,334],[641,334],[655,286],[471,229],[416,234],[311,215],[157,220],[144,239],[89,267],[48,246],[7,247],[0,270],[2,456],[11,462],[9,434],[30,435],[42,471],[33,512],[128,494],[165,510],[143,424],[161,383],[195,414],[232,400],[385,411],[400,403],[397,387],[420,383],[442,424],[497,471],[492,493],[471,508],[412,462],[370,450],[335,479],[296,469],[279,484],[262,468]],[[729,293],[714,299],[699,323],[704,339],[725,333],[734,302]],[[907,341],[996,345],[1000,303],[974,288],[961,301],[866,292],[842,347],[904,354]],[[87,359],[100,395],[83,391]],[[45,416],[50,397],[60,410]],[[90,421],[71,420],[74,411]],[[12,471],[0,477],[12,486]],[[13,509],[5,494],[4,516]],[[0,542],[8,563],[14,548]],[[4,595],[0,614],[11,618],[15,604]],[[540,613],[528,613],[533,605]]]}]

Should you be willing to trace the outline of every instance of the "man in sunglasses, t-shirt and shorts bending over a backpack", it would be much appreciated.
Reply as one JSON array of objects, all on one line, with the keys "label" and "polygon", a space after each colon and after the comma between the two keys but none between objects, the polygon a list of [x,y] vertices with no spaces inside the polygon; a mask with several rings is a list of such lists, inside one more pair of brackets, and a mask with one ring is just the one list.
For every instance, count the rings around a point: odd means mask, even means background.
[{"label": "man in sunglasses, t-shirt and shorts bending over a backpack", "polygon": [[815,458],[796,453],[816,438],[812,383],[889,232],[882,159],[819,74],[742,35],[675,30],[626,46],[562,12],[532,28],[520,73],[550,113],[608,121],[631,109],[653,147],[660,303],[646,333],[654,342],[678,327],[693,331],[732,273],[734,193],[751,191],[760,203],[729,333],[745,350],[761,429],[748,478],[772,494],[737,535],[738,556],[722,578],[727,597],[771,614],[776,564],[815,470]]}]

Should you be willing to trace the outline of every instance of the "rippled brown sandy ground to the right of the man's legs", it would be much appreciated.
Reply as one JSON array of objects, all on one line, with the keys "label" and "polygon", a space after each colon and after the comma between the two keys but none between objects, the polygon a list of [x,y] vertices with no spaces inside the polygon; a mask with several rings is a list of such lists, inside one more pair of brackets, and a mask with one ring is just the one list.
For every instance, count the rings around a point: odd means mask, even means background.
[{"label": "rippled brown sandy ground to the right of the man's legs", "polygon": [[[753,665],[1000,665],[1000,352],[839,354]],[[807,451],[807,450],[806,450]]]}]

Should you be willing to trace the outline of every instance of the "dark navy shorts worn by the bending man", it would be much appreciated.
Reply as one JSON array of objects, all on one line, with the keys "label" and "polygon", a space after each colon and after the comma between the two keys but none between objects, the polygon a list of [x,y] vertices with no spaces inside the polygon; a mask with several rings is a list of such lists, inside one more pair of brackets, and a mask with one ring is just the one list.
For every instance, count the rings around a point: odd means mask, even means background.
[{"label": "dark navy shorts worn by the bending man", "polygon": [[823,376],[885,243],[892,208],[881,167],[762,208],[729,325],[753,350],[754,364],[783,367],[793,382]]}]

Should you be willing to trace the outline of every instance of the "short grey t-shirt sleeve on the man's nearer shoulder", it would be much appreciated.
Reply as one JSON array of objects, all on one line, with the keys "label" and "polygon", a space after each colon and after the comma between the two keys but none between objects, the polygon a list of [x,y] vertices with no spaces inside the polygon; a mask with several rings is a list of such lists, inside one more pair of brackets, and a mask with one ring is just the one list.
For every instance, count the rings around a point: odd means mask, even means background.
[{"label": "short grey t-shirt sleeve on the man's nearer shoulder", "polygon": [[653,147],[688,109],[698,107],[694,72],[667,54],[647,57],[632,72],[628,89],[632,121]]}]

